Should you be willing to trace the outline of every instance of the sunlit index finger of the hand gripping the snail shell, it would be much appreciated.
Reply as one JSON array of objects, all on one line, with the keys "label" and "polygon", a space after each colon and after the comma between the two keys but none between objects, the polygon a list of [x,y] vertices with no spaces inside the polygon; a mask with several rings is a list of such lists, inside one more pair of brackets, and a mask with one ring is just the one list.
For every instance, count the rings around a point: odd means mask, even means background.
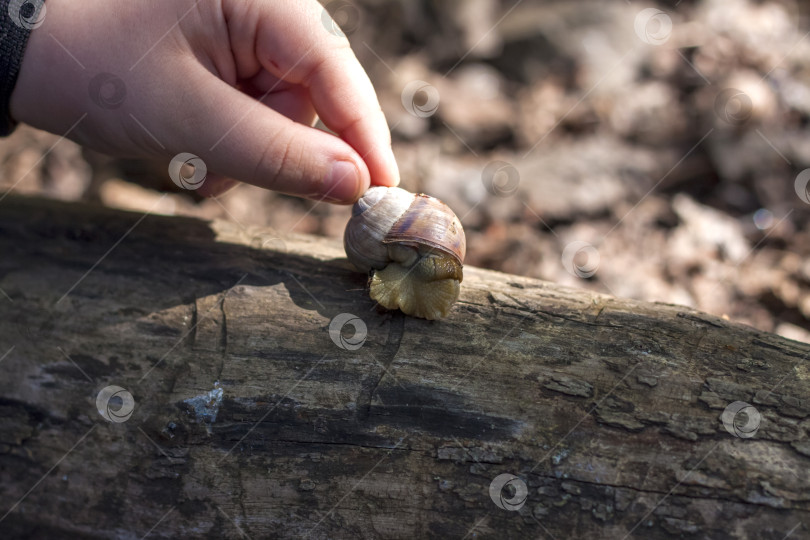
[{"label": "sunlit index finger of the hand gripping the snail shell", "polygon": [[[238,4],[245,11],[245,3]],[[397,185],[391,133],[374,87],[346,37],[324,24],[331,22],[324,8],[315,0],[250,5],[252,13],[243,15],[247,20],[229,18],[229,28],[241,27],[236,35],[231,29],[231,40],[255,43],[256,60],[264,69],[308,89],[323,123],[366,162],[372,184]]]}]

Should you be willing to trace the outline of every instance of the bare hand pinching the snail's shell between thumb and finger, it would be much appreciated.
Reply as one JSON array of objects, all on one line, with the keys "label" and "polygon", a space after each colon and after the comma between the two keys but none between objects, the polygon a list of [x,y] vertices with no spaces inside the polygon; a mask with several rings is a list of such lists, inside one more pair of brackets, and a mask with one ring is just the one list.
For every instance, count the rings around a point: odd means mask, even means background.
[{"label": "bare hand pinching the snail's shell between thumb and finger", "polygon": [[[209,171],[206,195],[230,187],[230,177],[350,203],[369,183],[398,182],[371,82],[315,0],[48,0],[46,8],[12,94],[17,121],[167,165],[195,154]],[[316,114],[340,138],[310,127]]]}]

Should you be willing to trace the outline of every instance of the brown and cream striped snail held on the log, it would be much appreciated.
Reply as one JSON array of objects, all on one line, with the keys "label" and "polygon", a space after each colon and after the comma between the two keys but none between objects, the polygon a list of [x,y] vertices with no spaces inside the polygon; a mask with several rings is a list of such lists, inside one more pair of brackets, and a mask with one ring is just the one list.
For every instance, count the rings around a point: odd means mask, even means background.
[{"label": "brown and cream striped snail held on the log", "polygon": [[354,204],[343,245],[358,270],[372,272],[371,298],[386,309],[433,320],[458,299],[467,242],[439,199],[372,187]]}]

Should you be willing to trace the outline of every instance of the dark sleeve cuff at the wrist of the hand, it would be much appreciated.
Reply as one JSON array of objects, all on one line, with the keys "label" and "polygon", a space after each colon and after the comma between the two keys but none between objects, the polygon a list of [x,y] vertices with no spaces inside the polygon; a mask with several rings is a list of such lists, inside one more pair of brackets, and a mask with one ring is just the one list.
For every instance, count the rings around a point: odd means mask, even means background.
[{"label": "dark sleeve cuff at the wrist of the hand", "polygon": [[9,101],[31,30],[45,20],[45,0],[0,0],[0,137],[14,131]]}]

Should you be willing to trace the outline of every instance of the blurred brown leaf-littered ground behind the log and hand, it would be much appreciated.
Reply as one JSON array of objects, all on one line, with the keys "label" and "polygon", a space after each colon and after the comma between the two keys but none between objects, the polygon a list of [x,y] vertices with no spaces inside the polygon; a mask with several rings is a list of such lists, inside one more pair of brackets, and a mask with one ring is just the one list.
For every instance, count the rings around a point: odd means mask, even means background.
[{"label": "blurred brown leaf-littered ground behind the log and hand", "polygon": [[[455,210],[467,264],[810,342],[808,3],[323,3],[403,187]],[[248,185],[202,200],[166,165],[21,127],[0,191],[141,212],[171,191],[158,213],[342,237],[348,207]]]}]

